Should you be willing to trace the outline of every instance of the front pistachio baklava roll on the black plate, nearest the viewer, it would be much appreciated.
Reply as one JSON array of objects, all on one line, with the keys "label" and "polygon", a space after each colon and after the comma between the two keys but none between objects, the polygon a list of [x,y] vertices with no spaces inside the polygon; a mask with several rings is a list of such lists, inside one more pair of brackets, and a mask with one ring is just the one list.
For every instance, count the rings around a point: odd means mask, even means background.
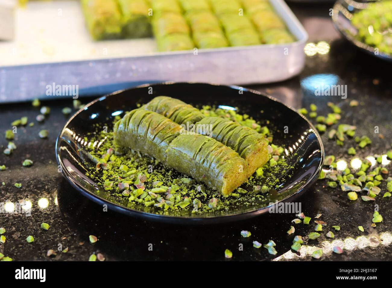
[{"label": "front pistachio baklava roll on the black plate, nearest the viewer", "polygon": [[246,161],[229,147],[148,110],[128,112],[114,125],[114,141],[152,156],[171,168],[229,194],[250,176]]}]

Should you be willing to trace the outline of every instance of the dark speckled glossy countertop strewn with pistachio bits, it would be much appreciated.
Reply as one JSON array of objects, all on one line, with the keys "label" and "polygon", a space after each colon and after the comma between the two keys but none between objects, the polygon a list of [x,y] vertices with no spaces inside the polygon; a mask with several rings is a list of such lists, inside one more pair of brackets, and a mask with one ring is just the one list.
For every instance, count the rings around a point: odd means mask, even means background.
[{"label": "dark speckled glossy countertop strewn with pistachio bits", "polygon": [[[357,125],[356,135],[367,135],[373,143],[357,150],[358,158],[374,154],[385,154],[392,143],[392,98],[390,69],[391,63],[381,62],[358,51],[340,38],[332,27],[328,15],[332,4],[290,4],[294,13],[308,31],[309,42],[326,41],[330,46],[327,54],[307,56],[304,71],[291,80],[250,88],[267,92],[295,108],[307,107],[310,103],[318,105],[318,114],[330,112],[327,102],[331,101],[342,109],[339,123]],[[320,50],[323,53],[322,50]],[[326,74],[318,75],[317,74]],[[347,99],[339,96],[315,96],[306,87],[313,89],[312,81],[336,80],[347,85]],[[318,82],[317,82],[318,81]],[[82,99],[87,103],[92,98]],[[358,100],[358,107],[350,107],[349,101]],[[76,192],[58,172],[55,160],[54,143],[67,117],[61,109],[71,107],[72,100],[45,102],[51,107],[51,115],[44,123],[37,123],[38,110],[30,103],[2,105],[0,109],[0,132],[4,135],[9,124],[22,116],[34,120],[34,127],[20,127],[16,134],[17,149],[11,156],[0,154],[0,165],[9,169],[0,172],[0,202],[31,201],[31,216],[25,213],[0,214],[0,227],[6,229],[5,244],[0,243],[0,252],[14,260],[87,260],[93,252],[102,253],[107,260],[224,260],[224,250],[233,252],[233,260],[274,259],[312,259],[311,252],[316,247],[324,249],[321,260],[392,260],[392,199],[378,196],[374,202],[348,201],[346,193],[340,189],[326,188],[326,181],[318,181],[298,201],[305,215],[314,217],[323,214],[320,220],[327,227],[340,225],[340,231],[333,231],[336,243],[344,243],[341,255],[332,254],[332,241],[325,237],[326,232],[317,240],[310,240],[298,256],[290,252],[291,241],[287,235],[293,214],[267,214],[248,221],[216,226],[173,226],[150,223],[130,218],[114,212],[103,212],[102,207],[89,201]],[[309,109],[308,109],[309,110]],[[375,126],[379,134],[374,133]],[[38,132],[49,130],[48,139],[40,139]],[[351,159],[347,149],[353,140],[339,147],[323,135],[326,155],[334,154],[338,159]],[[1,150],[7,145],[4,136],[0,138]],[[34,165],[22,167],[24,159],[32,159]],[[388,165],[392,174],[392,167]],[[5,182],[5,186],[1,182]],[[14,186],[22,183],[21,188]],[[383,184],[385,187],[385,183]],[[383,190],[385,192],[385,188]],[[382,193],[383,194],[383,193]],[[43,208],[40,208],[38,201]],[[48,206],[45,208],[46,204]],[[383,223],[376,228],[370,227],[374,205],[378,205]],[[9,204],[8,204],[9,205]],[[11,204],[12,205],[12,204]],[[313,221],[314,219],[312,219]],[[40,228],[42,222],[49,223],[49,230]],[[360,232],[362,225],[365,232]],[[296,234],[307,235],[314,225],[295,225]],[[252,236],[243,238],[241,230],[249,230]],[[99,241],[89,243],[89,235],[96,235]],[[25,238],[34,236],[34,243]],[[278,255],[272,256],[264,248],[252,247],[252,241],[276,242]],[[149,247],[152,244],[152,251]],[[242,245],[241,245],[242,244]],[[47,257],[48,249],[56,250],[69,247],[69,252]],[[243,246],[243,250],[239,248]],[[328,252],[329,251],[329,252]]]}]

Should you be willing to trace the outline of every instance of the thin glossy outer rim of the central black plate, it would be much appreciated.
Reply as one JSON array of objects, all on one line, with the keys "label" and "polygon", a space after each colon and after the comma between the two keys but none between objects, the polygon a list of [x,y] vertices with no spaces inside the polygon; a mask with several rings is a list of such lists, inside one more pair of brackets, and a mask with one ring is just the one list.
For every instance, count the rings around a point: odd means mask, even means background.
[{"label": "thin glossy outer rim of the central black plate", "polygon": [[226,87],[226,88],[230,88],[230,89],[242,89],[243,91],[247,91],[247,92],[251,92],[254,94],[257,94],[259,96],[262,97],[267,97],[272,101],[276,101],[281,105],[284,105],[285,107],[287,107],[288,109],[294,111],[296,114],[298,114],[301,118],[303,118],[308,125],[310,126],[311,129],[314,130],[314,134],[316,135],[316,139],[318,141],[318,144],[320,146],[320,161],[319,161],[319,165],[317,170],[312,174],[312,176],[306,181],[305,184],[303,184],[301,186],[301,188],[299,188],[295,193],[290,194],[288,196],[286,196],[285,198],[281,199],[278,201],[278,203],[280,202],[287,202],[288,199],[294,199],[300,195],[302,195],[305,191],[307,191],[312,184],[318,179],[318,176],[323,168],[323,162],[324,162],[324,157],[325,157],[325,151],[324,151],[324,146],[323,146],[323,142],[321,141],[321,137],[318,134],[316,128],[312,125],[312,123],[310,123],[310,121],[305,118],[305,116],[303,116],[302,114],[298,113],[295,109],[293,109],[292,107],[290,107],[289,105],[279,101],[278,99],[264,94],[262,92],[253,90],[253,89],[247,89],[244,87],[240,87],[237,85],[221,85],[221,84],[214,84],[214,83],[200,83],[200,82],[160,82],[160,83],[146,83],[146,84],[142,84],[142,85],[138,85],[136,87],[132,87],[129,89],[123,89],[123,90],[119,90],[119,91],[115,91],[113,93],[110,94],[106,94],[103,95],[101,97],[98,97],[96,99],[94,99],[93,101],[87,103],[85,106],[83,106],[82,109],[78,110],[71,118],[69,118],[69,120],[65,123],[64,127],[62,128],[58,138],[56,139],[56,145],[55,145],[55,152],[56,152],[56,161],[58,163],[58,165],[60,165],[61,167],[61,173],[64,176],[64,178],[71,184],[71,186],[73,188],[75,188],[78,192],[80,192],[83,196],[87,197],[88,199],[92,200],[93,202],[100,204],[100,205],[107,205],[108,208],[110,208],[111,210],[114,210],[116,212],[128,215],[128,216],[132,216],[132,217],[138,217],[138,218],[142,218],[142,219],[148,219],[151,221],[156,221],[156,222],[165,222],[165,223],[173,223],[173,224],[217,224],[217,223],[227,223],[227,222],[234,222],[234,221],[240,221],[243,219],[248,219],[248,218],[252,218],[252,217],[256,217],[260,214],[264,214],[265,212],[267,212],[269,210],[270,207],[272,207],[274,204],[272,205],[268,205],[268,206],[264,206],[261,208],[256,208],[254,210],[250,210],[247,212],[237,212],[237,213],[233,213],[230,215],[223,215],[223,216],[205,216],[205,217],[183,217],[183,216],[171,216],[171,215],[161,215],[161,214],[153,214],[153,213],[149,213],[149,212],[144,212],[144,211],[140,211],[140,210],[136,210],[133,208],[127,208],[121,205],[118,205],[116,203],[113,203],[111,201],[108,201],[92,192],[90,192],[89,190],[85,189],[78,181],[76,181],[71,174],[69,173],[69,171],[67,170],[67,168],[64,165],[63,159],[61,157],[61,153],[60,153],[60,142],[62,141],[62,135],[64,134],[65,129],[67,129],[67,126],[69,125],[69,123],[71,123],[71,121],[73,121],[73,119],[80,114],[81,112],[83,112],[83,110],[85,110],[86,108],[90,107],[91,105],[94,105],[94,103],[104,100],[107,97],[113,97],[117,94],[126,92],[126,91],[132,91],[135,89],[139,89],[139,88],[145,88],[145,87],[149,87],[149,86],[154,86],[154,85],[172,85],[172,84],[202,84],[202,85],[213,85],[213,86],[220,86],[220,87]]}]

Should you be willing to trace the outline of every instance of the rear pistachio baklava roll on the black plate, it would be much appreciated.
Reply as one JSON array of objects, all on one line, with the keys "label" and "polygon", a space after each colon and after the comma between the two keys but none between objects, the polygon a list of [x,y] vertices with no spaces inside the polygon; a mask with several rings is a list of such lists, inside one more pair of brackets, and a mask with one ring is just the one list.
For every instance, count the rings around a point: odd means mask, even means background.
[{"label": "rear pistachio baklava roll on the black plate", "polygon": [[221,117],[206,117],[192,105],[167,96],[155,97],[142,109],[157,112],[186,129],[193,125],[194,132],[208,135],[236,151],[247,161],[247,169],[251,173],[268,160],[268,143],[264,136],[238,122]]}]

